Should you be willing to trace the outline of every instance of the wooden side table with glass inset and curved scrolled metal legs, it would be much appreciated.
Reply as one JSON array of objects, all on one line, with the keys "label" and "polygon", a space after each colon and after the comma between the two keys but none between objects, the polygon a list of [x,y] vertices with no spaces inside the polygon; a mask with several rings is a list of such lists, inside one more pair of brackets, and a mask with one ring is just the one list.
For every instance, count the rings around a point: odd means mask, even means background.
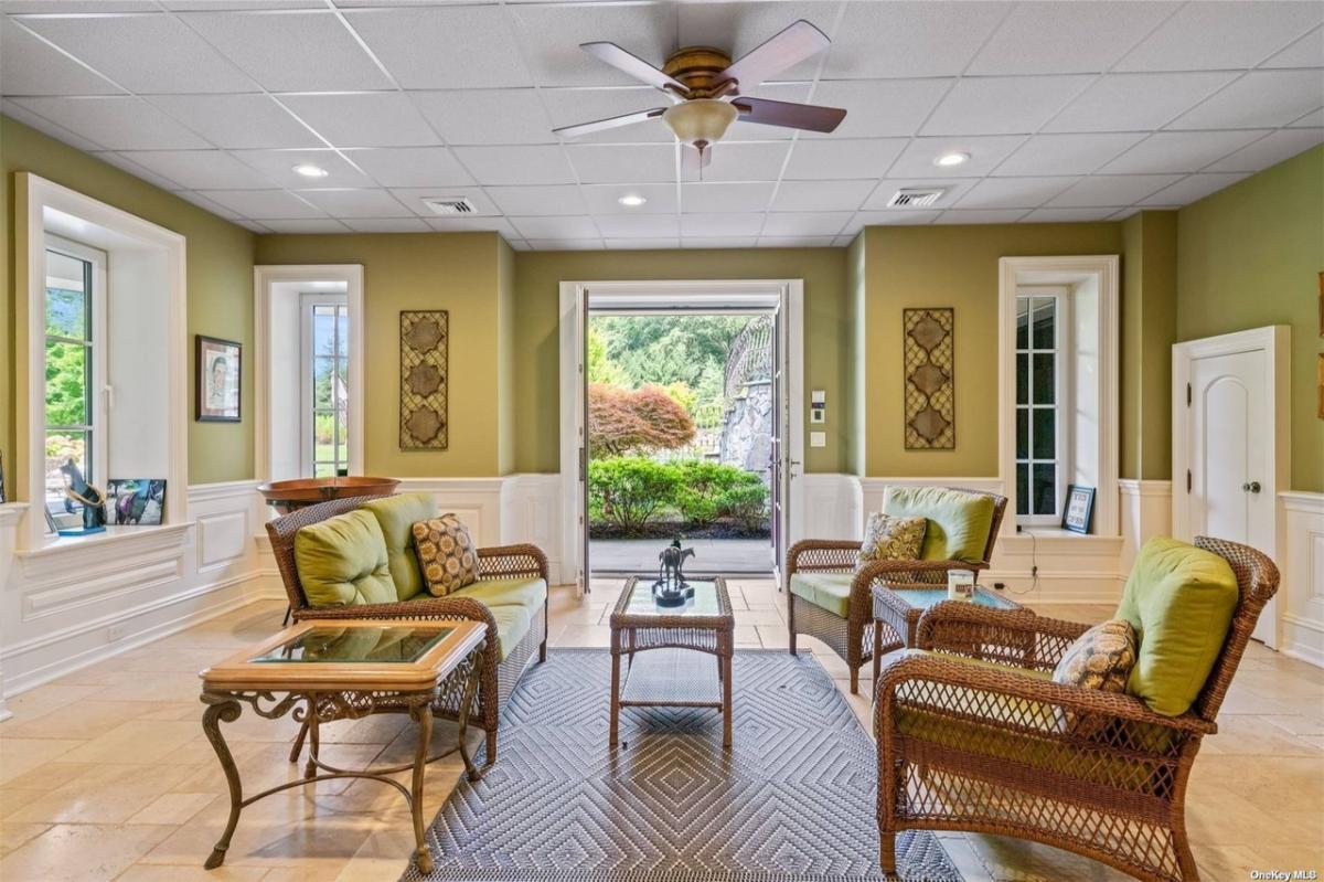
[{"label": "wooden side table with glass inset and curved scrolled metal legs", "polygon": [[[432,853],[424,838],[422,785],[428,763],[459,751],[470,780],[481,772],[465,746],[469,714],[482,679],[485,629],[474,621],[305,621],[269,640],[230,656],[201,674],[203,731],[212,743],[230,789],[230,816],[225,832],[207,858],[207,869],[225,861],[240,812],[260,799],[316,781],[364,777],[395,787],[413,814],[418,869],[432,873]],[[455,748],[428,756],[432,710],[454,690],[459,699]],[[303,777],[244,796],[238,767],[225,743],[221,723],[233,723],[249,705],[266,719],[293,711],[308,723],[310,752]],[[368,714],[404,712],[418,723],[418,747],[412,763],[343,769],[318,756],[318,730],[323,723],[357,719]],[[412,787],[389,777],[413,769]]]}]

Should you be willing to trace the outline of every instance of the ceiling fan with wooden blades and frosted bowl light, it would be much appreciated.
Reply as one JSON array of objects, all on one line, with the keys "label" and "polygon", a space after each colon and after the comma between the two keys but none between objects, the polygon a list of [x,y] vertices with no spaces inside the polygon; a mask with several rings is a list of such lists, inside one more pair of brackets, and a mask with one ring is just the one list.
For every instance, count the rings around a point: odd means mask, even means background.
[{"label": "ceiling fan with wooden blades and frosted bowl light", "polygon": [[567,138],[579,138],[661,118],[677,140],[694,147],[682,154],[687,168],[707,166],[712,160],[712,144],[727,134],[736,119],[784,128],[833,131],[846,118],[846,111],[839,107],[769,101],[744,94],[830,44],[822,30],[801,19],[733,64],[720,49],[685,46],[671,53],[658,70],[614,42],[585,42],[580,49],[659,89],[673,103],[670,107],[641,110],[553,131]]}]

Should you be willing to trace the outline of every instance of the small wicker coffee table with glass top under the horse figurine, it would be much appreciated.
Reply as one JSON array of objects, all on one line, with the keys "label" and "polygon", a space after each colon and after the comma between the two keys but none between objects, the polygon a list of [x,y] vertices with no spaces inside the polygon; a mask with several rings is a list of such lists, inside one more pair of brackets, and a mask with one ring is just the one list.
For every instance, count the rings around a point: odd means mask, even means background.
[{"label": "small wicker coffee table with glass top under the horse figurine", "polygon": [[[616,747],[622,707],[714,707],[722,711],[722,746],[731,747],[731,656],[735,614],[722,577],[691,579],[694,597],[683,607],[653,600],[653,580],[632,576],[612,611],[612,722]],[[649,649],[692,649],[716,656],[716,681],[698,665],[678,661],[662,677],[632,675],[634,654]],[[621,683],[621,657],[626,682]],[[711,669],[710,669],[711,670]]]}]

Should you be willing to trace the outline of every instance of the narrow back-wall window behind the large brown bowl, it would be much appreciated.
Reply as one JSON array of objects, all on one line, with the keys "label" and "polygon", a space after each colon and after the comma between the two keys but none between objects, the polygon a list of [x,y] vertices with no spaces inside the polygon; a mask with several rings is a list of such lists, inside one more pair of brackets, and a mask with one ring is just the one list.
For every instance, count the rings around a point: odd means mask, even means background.
[{"label": "narrow back-wall window behind the large brown bowl", "polygon": [[350,474],[350,306],[344,294],[303,294],[305,475]]}]

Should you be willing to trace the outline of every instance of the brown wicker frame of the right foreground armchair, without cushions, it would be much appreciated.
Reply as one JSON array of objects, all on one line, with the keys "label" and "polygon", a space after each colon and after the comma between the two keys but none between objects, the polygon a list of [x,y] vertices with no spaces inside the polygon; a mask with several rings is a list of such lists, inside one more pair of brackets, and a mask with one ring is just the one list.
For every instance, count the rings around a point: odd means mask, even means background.
[{"label": "brown wicker frame of the right foreground armchair, without cushions", "polygon": [[[1055,683],[1086,625],[935,605],[919,650],[888,656],[876,685],[880,863],[903,829],[969,830],[1054,845],[1139,879],[1200,878],[1186,840],[1190,767],[1246,641],[1278,589],[1278,568],[1222,539],[1196,544],[1231,564],[1241,588],[1227,638],[1190,710],[1162,716],[1139,698]],[[972,665],[923,650],[998,665]],[[1022,669],[1022,670],[1017,670]]]}]

